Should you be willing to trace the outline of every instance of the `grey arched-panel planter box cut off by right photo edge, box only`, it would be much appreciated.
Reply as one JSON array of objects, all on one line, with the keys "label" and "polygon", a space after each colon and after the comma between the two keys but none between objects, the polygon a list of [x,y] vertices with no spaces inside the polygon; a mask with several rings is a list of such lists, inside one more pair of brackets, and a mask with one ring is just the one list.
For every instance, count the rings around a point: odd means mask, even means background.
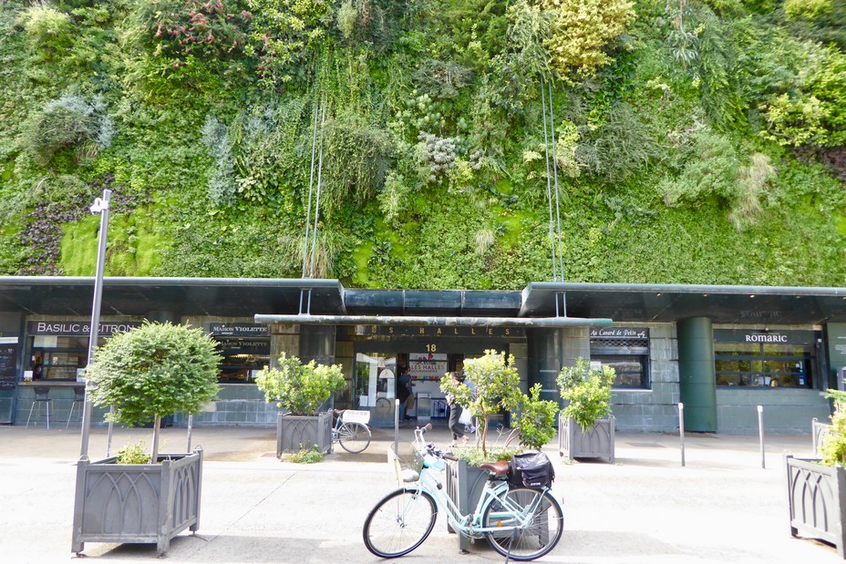
[{"label": "grey arched-panel planter box cut off by right photo edge, box only", "polygon": [[788,468],[790,534],[818,538],[846,558],[846,470],[825,467],[819,459],[785,456]]}]

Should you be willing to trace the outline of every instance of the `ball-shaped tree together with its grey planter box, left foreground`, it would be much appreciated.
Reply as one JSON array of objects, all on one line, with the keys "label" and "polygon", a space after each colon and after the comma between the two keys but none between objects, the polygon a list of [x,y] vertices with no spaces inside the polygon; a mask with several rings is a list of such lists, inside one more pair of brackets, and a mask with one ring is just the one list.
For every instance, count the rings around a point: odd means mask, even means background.
[{"label": "ball-shaped tree together with its grey planter box, left foreground", "polygon": [[87,541],[154,542],[162,554],[170,538],[200,527],[202,451],[160,455],[159,431],[162,416],[199,411],[217,396],[216,347],[201,329],[145,322],[98,349],[87,369],[91,401],[114,406],[108,421],[152,421],[153,441],[146,464],[79,460],[74,552]]}]

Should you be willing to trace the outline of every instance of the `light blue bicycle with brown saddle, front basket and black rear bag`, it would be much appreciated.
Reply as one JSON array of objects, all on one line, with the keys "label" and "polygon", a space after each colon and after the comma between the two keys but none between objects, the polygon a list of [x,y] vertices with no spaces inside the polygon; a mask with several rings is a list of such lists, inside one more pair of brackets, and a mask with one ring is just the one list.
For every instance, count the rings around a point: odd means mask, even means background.
[{"label": "light blue bicycle with brown saddle, front basket and black rear bag", "polygon": [[436,476],[444,458],[455,458],[425,443],[423,435],[430,428],[415,430],[409,456],[393,456],[397,478],[407,485],[383,497],[367,515],[363,533],[370,552],[391,559],[417,549],[435,527],[438,508],[446,509],[460,534],[487,538],[507,559],[538,559],[555,548],[563,529],[561,505],[546,487],[511,486],[508,462],[480,465],[490,477],[475,511],[461,515]]}]

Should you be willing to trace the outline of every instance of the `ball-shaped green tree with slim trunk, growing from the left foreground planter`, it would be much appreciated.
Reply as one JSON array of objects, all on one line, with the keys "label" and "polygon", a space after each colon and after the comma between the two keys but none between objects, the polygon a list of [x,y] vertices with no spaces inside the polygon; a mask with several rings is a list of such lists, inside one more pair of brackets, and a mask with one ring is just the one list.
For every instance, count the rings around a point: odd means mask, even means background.
[{"label": "ball-shaped green tree with slim trunk, growing from the left foreground planter", "polygon": [[196,412],[217,397],[217,344],[201,329],[145,322],[98,348],[86,375],[94,405],[114,406],[107,421],[153,422],[150,464],[159,455],[161,417]]}]

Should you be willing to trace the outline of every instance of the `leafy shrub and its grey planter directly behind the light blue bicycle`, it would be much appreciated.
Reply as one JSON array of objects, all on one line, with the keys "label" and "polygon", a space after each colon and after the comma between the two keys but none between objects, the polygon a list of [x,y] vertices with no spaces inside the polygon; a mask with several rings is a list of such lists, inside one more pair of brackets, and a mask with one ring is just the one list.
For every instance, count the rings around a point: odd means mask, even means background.
[{"label": "leafy shrub and its grey planter directly behind the light blue bicycle", "polygon": [[[540,399],[541,385],[535,385],[530,395],[520,391],[520,375],[513,366],[514,357],[493,350],[484,356],[464,362],[465,382],[456,385],[448,375],[440,381],[444,394],[452,395],[456,402],[477,418],[480,433],[480,447],[462,449],[456,453],[457,462],[446,467],[447,493],[462,514],[476,508],[482,488],[488,479],[488,472],[476,465],[492,460],[510,460],[522,448],[510,448],[518,439],[521,447],[540,449],[555,434],[555,412],[558,406],[552,401]],[[489,449],[490,415],[506,409],[514,416],[514,431],[505,444]],[[452,529],[447,528],[450,532]],[[468,539],[459,536],[459,548],[468,549]]]}]

